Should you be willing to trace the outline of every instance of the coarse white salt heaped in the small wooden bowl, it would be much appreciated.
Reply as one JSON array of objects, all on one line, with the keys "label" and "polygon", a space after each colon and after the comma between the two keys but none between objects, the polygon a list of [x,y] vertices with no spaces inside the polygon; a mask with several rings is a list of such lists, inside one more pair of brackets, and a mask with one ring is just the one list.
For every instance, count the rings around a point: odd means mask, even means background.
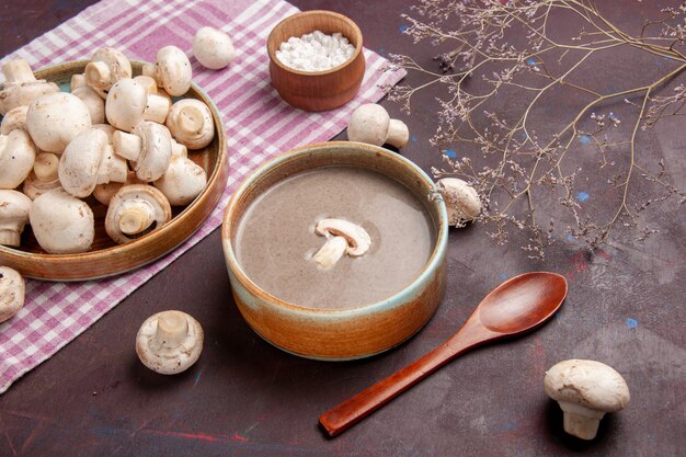
[{"label": "coarse white salt heaped in the small wooden bowl", "polygon": [[354,53],[355,46],[342,33],[327,35],[315,31],[282,43],[276,58],[294,70],[327,71],[345,62]]}]

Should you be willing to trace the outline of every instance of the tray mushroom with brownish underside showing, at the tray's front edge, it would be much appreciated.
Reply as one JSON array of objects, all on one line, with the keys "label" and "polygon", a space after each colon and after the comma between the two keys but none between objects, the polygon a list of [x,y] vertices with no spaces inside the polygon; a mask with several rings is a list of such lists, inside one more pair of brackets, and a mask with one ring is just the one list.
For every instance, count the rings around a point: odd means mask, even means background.
[{"label": "tray mushroom with brownish underside showing, at the tray's front edge", "polygon": [[127,185],[114,194],[105,216],[110,238],[122,244],[160,229],[171,219],[167,197],[146,184]]}]

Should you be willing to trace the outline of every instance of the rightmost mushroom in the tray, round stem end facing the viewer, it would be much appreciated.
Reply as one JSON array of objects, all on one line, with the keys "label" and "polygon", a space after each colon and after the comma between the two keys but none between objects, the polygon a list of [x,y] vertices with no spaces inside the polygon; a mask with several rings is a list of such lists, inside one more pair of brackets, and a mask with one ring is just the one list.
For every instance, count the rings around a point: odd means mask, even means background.
[{"label": "rightmost mushroom in the tray, round stem end facing the viewer", "polygon": [[174,103],[167,116],[167,127],[176,141],[188,149],[202,149],[215,137],[211,111],[196,99],[184,99]]}]

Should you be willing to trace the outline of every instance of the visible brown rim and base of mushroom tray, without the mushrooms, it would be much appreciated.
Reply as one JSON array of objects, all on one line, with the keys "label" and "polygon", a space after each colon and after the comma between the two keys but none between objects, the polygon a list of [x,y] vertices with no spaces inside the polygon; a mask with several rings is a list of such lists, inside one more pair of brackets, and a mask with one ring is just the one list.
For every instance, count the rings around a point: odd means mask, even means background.
[{"label": "visible brown rim and base of mushroom tray, without the mushrooms", "polygon": [[[55,81],[62,91],[68,91],[71,76],[82,73],[87,64],[88,61],[71,61],[38,70],[35,75],[38,79]],[[134,76],[140,75],[142,62],[132,62],[132,66]],[[95,216],[95,239],[89,252],[48,254],[41,249],[31,226],[27,225],[19,248],[0,245],[0,265],[10,266],[24,276],[39,279],[95,279],[125,273],[153,262],[188,239],[221,198],[229,175],[229,162],[226,134],[221,116],[215,105],[195,84],[183,98],[205,102],[215,119],[214,140],[204,149],[188,151],[188,158],[207,172],[207,186],[201,195],[188,206],[172,207],[173,218],[162,228],[125,244],[116,244],[110,239],[103,224],[107,208],[93,197],[89,197],[85,202]]]}]

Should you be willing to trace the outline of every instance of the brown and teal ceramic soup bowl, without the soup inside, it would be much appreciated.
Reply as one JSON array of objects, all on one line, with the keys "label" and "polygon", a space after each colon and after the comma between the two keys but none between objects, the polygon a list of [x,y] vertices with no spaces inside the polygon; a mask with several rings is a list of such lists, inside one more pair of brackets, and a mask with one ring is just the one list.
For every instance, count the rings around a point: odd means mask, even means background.
[{"label": "brown and teal ceramic soup bowl, without the soup inside", "polygon": [[[388,298],[346,309],[313,309],[282,300],[245,274],[235,251],[238,224],[250,204],[281,180],[323,167],[370,169],[404,184],[435,224],[436,242],[419,275]],[[433,181],[388,149],[351,141],[322,142],[285,152],[251,173],[224,215],[221,240],[236,304],[264,340],[289,353],[318,359],[351,359],[387,351],[416,333],[434,315],[446,286],[448,221],[443,201],[430,201]]]}]

